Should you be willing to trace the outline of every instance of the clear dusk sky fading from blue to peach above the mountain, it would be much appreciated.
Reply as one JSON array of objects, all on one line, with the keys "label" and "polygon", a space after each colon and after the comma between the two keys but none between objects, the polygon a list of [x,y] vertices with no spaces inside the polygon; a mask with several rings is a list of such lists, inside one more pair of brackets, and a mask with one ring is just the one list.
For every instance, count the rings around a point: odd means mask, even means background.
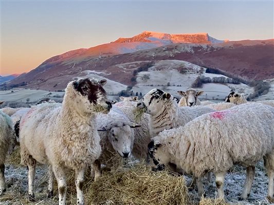
[{"label": "clear dusk sky fading from blue to peach above the mountain", "polygon": [[3,1],[0,75],[145,30],[269,39],[273,1]]}]

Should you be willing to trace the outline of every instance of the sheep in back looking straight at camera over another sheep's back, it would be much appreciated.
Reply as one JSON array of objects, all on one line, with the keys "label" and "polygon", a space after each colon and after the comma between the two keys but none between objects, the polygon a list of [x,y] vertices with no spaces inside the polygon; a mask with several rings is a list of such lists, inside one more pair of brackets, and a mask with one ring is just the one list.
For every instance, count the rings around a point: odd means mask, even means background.
[{"label": "sheep in back looking straight at camera over another sheep's back", "polygon": [[182,96],[178,103],[179,107],[191,107],[200,105],[200,100],[198,99],[198,96],[203,94],[204,91],[195,91],[193,89],[188,89],[186,92],[179,90],[177,91],[177,93]]}]

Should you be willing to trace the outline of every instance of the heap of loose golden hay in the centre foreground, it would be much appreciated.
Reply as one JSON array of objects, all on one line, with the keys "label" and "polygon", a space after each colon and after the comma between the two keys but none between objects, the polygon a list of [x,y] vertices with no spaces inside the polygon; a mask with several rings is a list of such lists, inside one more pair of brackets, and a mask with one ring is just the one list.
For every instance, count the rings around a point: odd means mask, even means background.
[{"label": "heap of loose golden hay in the centre foreground", "polygon": [[152,172],[146,165],[103,173],[100,181],[87,186],[87,204],[190,204],[183,177]]}]

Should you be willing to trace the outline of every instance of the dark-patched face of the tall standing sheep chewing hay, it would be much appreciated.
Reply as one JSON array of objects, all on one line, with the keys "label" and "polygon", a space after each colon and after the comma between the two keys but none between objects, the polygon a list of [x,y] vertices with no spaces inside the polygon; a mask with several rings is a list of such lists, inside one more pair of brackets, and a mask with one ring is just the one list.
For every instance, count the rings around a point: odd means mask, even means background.
[{"label": "dark-patched face of the tall standing sheep chewing hay", "polygon": [[104,110],[102,111],[103,113],[108,113],[112,108],[112,103],[107,99],[106,92],[103,89],[105,84],[105,79],[97,81],[95,79],[84,78],[72,81],[72,87],[78,96],[77,106],[84,109],[86,113],[99,112],[95,107],[101,107]]}]

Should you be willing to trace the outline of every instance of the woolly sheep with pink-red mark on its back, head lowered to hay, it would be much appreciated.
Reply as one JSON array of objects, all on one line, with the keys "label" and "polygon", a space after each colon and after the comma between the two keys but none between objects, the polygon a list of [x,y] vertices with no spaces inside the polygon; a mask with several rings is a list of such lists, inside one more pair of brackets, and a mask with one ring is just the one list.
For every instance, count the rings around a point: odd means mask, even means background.
[{"label": "woolly sheep with pink-red mark on its back, head lowered to hay", "polygon": [[[154,170],[179,167],[195,175],[198,194],[204,189],[201,177],[206,171],[216,175],[218,197],[224,197],[226,172],[235,164],[247,167],[242,198],[250,194],[255,164],[264,157],[269,177],[268,197],[274,187],[274,108],[248,103],[221,112],[207,113],[184,127],[166,130],[148,145]],[[172,165],[172,166],[171,166]]]}]

